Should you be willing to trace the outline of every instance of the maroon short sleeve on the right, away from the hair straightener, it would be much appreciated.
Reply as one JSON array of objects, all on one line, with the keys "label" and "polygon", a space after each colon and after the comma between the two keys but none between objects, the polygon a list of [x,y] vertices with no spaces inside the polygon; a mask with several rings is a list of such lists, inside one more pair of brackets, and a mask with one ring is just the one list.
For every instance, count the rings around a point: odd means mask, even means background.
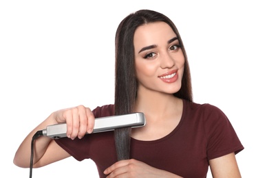
[{"label": "maroon short sleeve on the right, away from the hair straightener", "polygon": [[213,105],[206,104],[204,107],[208,159],[242,151],[244,147],[224,112]]}]

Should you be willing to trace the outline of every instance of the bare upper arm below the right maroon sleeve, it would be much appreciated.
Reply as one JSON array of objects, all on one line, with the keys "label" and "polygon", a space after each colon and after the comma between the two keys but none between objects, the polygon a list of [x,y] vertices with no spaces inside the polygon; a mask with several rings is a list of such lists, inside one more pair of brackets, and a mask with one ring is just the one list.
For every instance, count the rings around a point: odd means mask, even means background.
[{"label": "bare upper arm below the right maroon sleeve", "polygon": [[240,178],[241,174],[235,159],[235,153],[217,157],[209,161],[213,177]]}]

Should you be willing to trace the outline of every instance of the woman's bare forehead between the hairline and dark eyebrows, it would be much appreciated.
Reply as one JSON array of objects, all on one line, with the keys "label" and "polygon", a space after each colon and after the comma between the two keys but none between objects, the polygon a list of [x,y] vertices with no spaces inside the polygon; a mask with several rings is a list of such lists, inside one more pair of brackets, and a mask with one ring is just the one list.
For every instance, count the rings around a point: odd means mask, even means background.
[{"label": "woman's bare forehead between the hairline and dark eyebrows", "polygon": [[[138,27],[134,33],[134,46],[160,44],[175,37],[173,29],[164,22],[147,23]],[[140,46],[139,45],[139,46]]]}]

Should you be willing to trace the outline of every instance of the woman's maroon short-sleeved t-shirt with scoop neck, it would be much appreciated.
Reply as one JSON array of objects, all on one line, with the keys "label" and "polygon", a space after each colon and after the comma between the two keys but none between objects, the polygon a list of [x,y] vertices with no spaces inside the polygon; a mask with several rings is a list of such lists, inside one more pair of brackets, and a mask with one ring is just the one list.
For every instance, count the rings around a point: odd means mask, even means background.
[{"label": "woman's maroon short-sleeved t-shirt with scoop neck", "polygon": [[[96,118],[114,115],[114,105],[96,107],[93,113]],[[117,162],[114,131],[87,134],[81,140],[55,141],[78,161],[92,159],[99,177],[106,177],[105,168]],[[206,177],[209,160],[242,149],[235,130],[219,108],[185,100],[180,123],[167,136],[153,141],[131,138],[131,158],[182,177]]]}]

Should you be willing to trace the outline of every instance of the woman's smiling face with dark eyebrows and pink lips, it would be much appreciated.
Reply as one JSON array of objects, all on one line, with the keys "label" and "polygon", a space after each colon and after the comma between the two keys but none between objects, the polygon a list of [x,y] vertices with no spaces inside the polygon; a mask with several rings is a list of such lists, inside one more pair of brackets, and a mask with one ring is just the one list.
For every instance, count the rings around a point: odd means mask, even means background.
[{"label": "woman's smiling face with dark eyebrows and pink lips", "polygon": [[173,94],[182,84],[184,55],[177,36],[164,22],[149,23],[134,34],[138,93],[152,90]]}]

